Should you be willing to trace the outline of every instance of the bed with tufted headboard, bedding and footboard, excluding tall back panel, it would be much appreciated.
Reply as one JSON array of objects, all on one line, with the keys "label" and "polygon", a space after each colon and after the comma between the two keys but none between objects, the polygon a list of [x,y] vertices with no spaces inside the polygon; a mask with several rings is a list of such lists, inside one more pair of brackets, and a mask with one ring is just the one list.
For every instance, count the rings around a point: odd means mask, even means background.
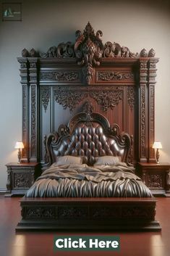
[{"label": "bed with tufted headboard, bedding and footboard, excluding tall back panel", "polygon": [[159,231],[156,199],[131,163],[132,137],[80,112],[46,137],[42,175],[21,199],[17,231]]}]

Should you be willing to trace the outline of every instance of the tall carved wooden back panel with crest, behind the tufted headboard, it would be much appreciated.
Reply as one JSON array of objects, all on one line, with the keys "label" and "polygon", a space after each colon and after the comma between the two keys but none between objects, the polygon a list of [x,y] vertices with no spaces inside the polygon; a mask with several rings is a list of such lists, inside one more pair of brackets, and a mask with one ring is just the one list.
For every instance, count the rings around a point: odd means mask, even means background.
[{"label": "tall carved wooden back panel with crest, behind the tufted headboard", "polygon": [[155,162],[155,51],[134,54],[117,43],[103,44],[101,37],[88,22],[82,33],[77,30],[75,44],[61,43],[46,53],[22,50],[23,162],[43,162],[43,136],[67,124],[86,101],[133,136],[134,162]]}]

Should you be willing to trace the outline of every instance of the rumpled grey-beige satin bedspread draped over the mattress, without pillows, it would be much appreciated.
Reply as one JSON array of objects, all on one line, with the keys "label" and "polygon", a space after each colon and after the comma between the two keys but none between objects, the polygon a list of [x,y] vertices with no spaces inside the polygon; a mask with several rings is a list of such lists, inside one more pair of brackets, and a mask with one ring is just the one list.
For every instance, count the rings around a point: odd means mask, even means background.
[{"label": "rumpled grey-beige satin bedspread draped over the mattress, without pillows", "polygon": [[152,197],[124,162],[114,165],[55,162],[35,181],[25,197]]}]

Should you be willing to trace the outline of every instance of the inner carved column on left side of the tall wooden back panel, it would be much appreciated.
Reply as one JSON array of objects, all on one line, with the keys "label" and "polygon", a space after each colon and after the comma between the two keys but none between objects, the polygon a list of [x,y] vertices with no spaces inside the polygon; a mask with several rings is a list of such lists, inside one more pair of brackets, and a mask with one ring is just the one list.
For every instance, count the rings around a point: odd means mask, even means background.
[{"label": "inner carved column on left side of the tall wooden back panel", "polygon": [[38,161],[38,58],[28,58],[30,63],[30,162]]}]

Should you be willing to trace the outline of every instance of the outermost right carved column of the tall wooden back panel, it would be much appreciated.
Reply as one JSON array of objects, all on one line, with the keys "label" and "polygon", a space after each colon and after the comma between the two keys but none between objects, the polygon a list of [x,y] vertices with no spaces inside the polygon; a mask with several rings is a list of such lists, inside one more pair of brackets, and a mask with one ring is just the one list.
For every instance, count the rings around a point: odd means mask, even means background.
[{"label": "outermost right carved column of the tall wooden back panel", "polygon": [[152,149],[152,146],[155,140],[155,84],[157,62],[158,59],[156,58],[150,58],[148,62],[148,162],[156,162],[155,151]]}]

